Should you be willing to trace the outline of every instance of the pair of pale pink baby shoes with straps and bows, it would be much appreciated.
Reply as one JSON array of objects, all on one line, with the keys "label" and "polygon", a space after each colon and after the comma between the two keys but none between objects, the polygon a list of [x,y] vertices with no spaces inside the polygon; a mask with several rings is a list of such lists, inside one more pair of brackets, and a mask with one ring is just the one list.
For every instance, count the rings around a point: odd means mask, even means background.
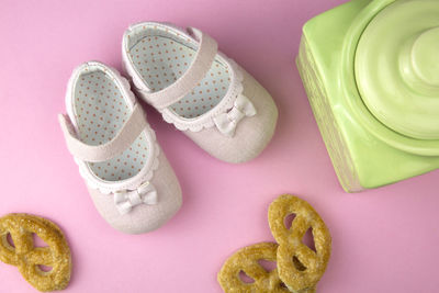
[{"label": "pair of pale pink baby shoes with straps and bows", "polygon": [[[213,157],[244,162],[270,142],[278,110],[270,94],[196,29],[146,22],[122,42],[134,91]],[[75,69],[59,115],[67,147],[99,213],[140,234],[180,209],[181,189],[128,81],[89,61]]]}]

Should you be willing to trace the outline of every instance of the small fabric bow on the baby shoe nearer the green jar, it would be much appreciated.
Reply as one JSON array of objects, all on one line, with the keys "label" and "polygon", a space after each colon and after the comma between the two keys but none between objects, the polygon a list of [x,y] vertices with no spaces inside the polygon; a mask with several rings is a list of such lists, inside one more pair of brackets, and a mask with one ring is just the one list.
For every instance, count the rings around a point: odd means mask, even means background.
[{"label": "small fabric bow on the baby shoe nearer the green jar", "polygon": [[245,116],[251,117],[255,115],[256,109],[251,101],[247,97],[239,94],[230,111],[219,114],[213,121],[222,134],[233,137],[239,121]]}]

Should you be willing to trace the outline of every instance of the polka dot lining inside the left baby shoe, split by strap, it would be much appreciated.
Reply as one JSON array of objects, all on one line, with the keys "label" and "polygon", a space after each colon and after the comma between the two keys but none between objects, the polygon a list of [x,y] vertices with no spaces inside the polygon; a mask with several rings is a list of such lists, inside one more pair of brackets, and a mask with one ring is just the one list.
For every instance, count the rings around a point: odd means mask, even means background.
[{"label": "polka dot lining inside the left baby shoe, split by strap", "polygon": [[[74,108],[79,139],[88,145],[111,140],[130,117],[131,110],[121,90],[103,71],[81,74],[75,86]],[[88,162],[92,172],[106,181],[117,181],[138,173],[148,156],[146,135],[108,161]]]}]

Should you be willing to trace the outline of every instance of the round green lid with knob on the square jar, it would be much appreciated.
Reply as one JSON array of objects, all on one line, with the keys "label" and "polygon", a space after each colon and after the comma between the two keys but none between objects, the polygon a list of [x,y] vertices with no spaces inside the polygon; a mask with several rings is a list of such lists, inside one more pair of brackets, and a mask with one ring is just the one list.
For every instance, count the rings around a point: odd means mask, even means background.
[{"label": "round green lid with knob on the square jar", "polygon": [[438,0],[398,0],[382,9],[362,32],[353,66],[376,120],[407,138],[439,140]]}]

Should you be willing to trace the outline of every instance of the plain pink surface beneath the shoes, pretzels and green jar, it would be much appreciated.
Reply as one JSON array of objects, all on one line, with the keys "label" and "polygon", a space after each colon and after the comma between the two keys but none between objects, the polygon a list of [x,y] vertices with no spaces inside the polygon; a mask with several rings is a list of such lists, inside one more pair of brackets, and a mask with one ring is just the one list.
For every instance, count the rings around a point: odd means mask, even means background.
[{"label": "plain pink surface beneath the shoes, pretzels and green jar", "polygon": [[[304,22],[344,1],[15,1],[0,9],[0,215],[35,213],[58,223],[72,250],[66,292],[222,292],[236,249],[273,240],[269,203],[301,195],[333,235],[318,292],[437,292],[439,171],[360,194],[336,178],[293,65]],[[272,93],[275,136],[251,162],[233,166],[199,149],[151,109],[148,120],[176,169],[183,207],[146,235],[113,230],[94,210],[56,114],[74,67],[121,68],[121,37],[146,20],[192,25],[215,37]],[[35,292],[0,263],[1,292]]]}]

